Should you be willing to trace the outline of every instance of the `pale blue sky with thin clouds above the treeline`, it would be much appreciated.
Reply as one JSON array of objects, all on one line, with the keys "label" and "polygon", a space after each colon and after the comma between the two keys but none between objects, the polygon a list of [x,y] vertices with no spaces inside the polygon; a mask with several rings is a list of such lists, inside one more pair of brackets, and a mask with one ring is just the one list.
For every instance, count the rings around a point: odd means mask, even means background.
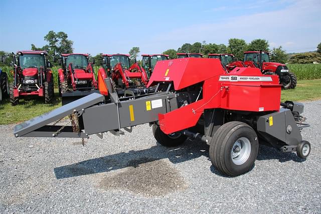
[{"label": "pale blue sky with thin clouds above the treeline", "polygon": [[0,50],[42,47],[63,31],[74,52],[161,53],[184,43],[263,38],[287,52],[321,42],[321,0],[311,1],[8,1],[0,4]]}]

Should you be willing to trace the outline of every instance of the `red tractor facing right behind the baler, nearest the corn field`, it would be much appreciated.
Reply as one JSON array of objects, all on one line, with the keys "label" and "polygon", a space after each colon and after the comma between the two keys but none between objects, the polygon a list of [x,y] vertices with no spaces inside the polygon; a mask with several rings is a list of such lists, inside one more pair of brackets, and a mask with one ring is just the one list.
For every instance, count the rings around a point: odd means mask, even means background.
[{"label": "red tractor facing right behind the baler, nearest the corn field", "polygon": [[266,75],[278,75],[282,88],[295,88],[296,76],[289,72],[286,65],[270,62],[268,52],[265,51],[246,51],[244,52],[244,61],[235,61],[227,65],[228,70],[235,67],[253,67],[260,68],[261,72]]}]

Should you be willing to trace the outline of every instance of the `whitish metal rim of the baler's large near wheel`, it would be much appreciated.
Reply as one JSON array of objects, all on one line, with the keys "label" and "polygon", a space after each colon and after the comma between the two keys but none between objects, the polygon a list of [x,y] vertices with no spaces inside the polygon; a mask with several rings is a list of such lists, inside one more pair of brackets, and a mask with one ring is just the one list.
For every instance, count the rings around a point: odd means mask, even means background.
[{"label": "whitish metal rim of the baler's large near wheel", "polygon": [[251,154],[251,143],[248,138],[237,139],[232,146],[231,158],[235,165],[242,165],[247,161]]}]

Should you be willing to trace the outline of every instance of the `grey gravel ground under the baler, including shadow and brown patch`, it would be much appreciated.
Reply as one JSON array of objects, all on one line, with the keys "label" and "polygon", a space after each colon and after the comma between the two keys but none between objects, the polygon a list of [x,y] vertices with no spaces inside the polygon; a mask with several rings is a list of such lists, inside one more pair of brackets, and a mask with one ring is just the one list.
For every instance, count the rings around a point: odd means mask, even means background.
[{"label": "grey gravel ground under the baler, including shadow and brown patch", "polygon": [[165,148],[148,125],[92,136],[85,146],[16,139],[14,125],[0,126],[0,213],[320,213],[320,115],[321,100],[305,103],[307,160],[261,146],[255,167],[238,177],[211,166],[206,144]]}]

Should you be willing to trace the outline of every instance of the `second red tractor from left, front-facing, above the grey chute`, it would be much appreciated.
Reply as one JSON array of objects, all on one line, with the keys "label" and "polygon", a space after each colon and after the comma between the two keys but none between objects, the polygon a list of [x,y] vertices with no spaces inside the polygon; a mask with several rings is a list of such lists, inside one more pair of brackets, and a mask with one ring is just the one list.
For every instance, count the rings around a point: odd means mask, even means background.
[{"label": "second red tractor from left, front-facing, above the grey chute", "polygon": [[63,104],[95,92],[98,83],[88,54],[61,54],[58,69],[59,94]]}]

